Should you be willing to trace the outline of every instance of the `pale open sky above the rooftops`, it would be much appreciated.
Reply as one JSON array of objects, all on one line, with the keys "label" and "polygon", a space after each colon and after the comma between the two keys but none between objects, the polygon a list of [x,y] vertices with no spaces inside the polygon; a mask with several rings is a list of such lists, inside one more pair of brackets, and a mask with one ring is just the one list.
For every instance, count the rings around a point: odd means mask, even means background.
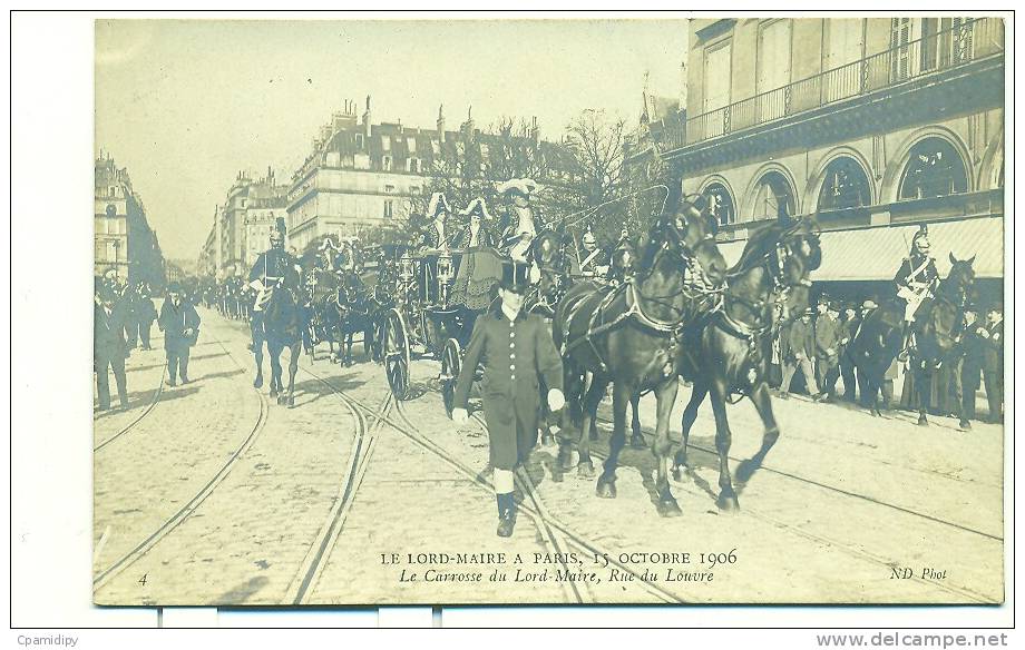
[{"label": "pale open sky above the rooftops", "polygon": [[240,169],[289,179],[345,99],[372,121],[478,128],[585,108],[636,124],[644,73],[679,96],[683,20],[98,21],[96,152],[127,167],[170,258],[195,258]]}]

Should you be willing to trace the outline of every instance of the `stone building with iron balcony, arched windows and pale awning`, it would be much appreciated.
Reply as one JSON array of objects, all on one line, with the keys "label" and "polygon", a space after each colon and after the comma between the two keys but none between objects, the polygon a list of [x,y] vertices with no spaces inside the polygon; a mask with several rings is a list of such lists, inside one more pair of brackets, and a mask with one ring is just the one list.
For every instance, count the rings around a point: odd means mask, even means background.
[{"label": "stone building with iron balcony, arched windows and pale awning", "polygon": [[1000,19],[694,19],[687,71],[685,119],[657,145],[684,191],[713,198],[728,260],[761,225],[814,216],[813,279],[888,297],[928,224],[940,274],[976,256],[999,294]]}]

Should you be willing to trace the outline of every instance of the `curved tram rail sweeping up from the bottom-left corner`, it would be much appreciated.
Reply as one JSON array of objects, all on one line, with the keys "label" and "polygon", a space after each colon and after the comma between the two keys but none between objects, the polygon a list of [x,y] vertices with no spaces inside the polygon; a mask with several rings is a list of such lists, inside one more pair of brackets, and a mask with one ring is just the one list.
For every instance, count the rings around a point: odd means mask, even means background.
[{"label": "curved tram rail sweeping up from the bottom-left corner", "polygon": [[[225,354],[227,354],[232,362],[235,363],[235,365],[245,370],[221,339],[216,337],[214,337],[214,339],[221,346],[221,348],[224,349]],[[248,434],[245,436],[242,443],[232,452],[227,461],[221,465],[221,469],[214,474],[214,476],[207,481],[199,489],[199,491],[196,492],[193,498],[185,503],[185,505],[183,505],[174,514],[166,519],[145,540],[136,544],[130,551],[115,560],[109,567],[107,567],[107,569],[100,571],[92,578],[94,593],[109,584],[114,578],[116,578],[125,569],[133,565],[135,562],[146,555],[146,553],[148,553],[154,546],[167,538],[168,534],[180,526],[203,504],[203,502],[214,493],[217,486],[224,482],[225,477],[227,477],[231,471],[238,463],[240,459],[242,459],[253,446],[253,444],[256,442],[256,439],[263,432],[267,421],[267,415],[270,413],[270,406],[267,404],[266,397],[260,392],[254,392],[253,394],[257,400],[258,414],[256,416],[256,421],[253,423]]]}]

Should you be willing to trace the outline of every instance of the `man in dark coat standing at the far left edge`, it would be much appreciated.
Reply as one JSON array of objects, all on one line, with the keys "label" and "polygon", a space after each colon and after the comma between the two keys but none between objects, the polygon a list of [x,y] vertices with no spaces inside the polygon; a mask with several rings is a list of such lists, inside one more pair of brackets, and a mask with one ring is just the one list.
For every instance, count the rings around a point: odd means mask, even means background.
[{"label": "man in dark coat standing at the far left edge", "polygon": [[121,408],[128,407],[128,381],[125,375],[125,358],[128,345],[125,343],[125,306],[106,286],[99,288],[92,312],[92,364],[96,368],[96,392],[99,410],[110,408],[110,383],[107,367],[114,371],[117,396]]}]

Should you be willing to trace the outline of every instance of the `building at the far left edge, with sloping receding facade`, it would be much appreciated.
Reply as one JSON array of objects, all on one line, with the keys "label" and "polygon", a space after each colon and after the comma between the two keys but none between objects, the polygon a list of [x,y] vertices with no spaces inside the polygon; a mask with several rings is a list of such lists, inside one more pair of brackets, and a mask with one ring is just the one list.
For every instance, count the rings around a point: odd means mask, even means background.
[{"label": "building at the far left edge, with sloping receding facade", "polygon": [[131,188],[128,170],[109,155],[94,166],[94,274],[110,270],[129,282],[164,284],[164,258],[146,208]]}]

